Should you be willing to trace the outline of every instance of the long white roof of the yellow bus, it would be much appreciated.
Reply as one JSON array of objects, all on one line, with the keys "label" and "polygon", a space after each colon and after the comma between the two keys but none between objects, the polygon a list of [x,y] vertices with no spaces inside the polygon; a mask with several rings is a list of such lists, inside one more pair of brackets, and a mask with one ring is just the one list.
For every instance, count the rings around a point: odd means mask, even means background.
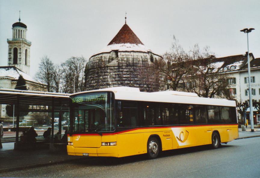
[{"label": "long white roof of the yellow bus", "polygon": [[[111,87],[91,91],[82,91],[75,94],[84,94],[91,92],[111,91],[115,94],[116,100],[129,101],[148,101],[162,103],[183,103],[183,104],[199,104],[213,106],[233,106],[236,107],[236,102],[226,99],[213,99],[198,97],[197,94],[179,92],[179,91],[161,91],[161,92],[141,92],[135,87]],[[71,95],[75,95],[71,94]]]}]

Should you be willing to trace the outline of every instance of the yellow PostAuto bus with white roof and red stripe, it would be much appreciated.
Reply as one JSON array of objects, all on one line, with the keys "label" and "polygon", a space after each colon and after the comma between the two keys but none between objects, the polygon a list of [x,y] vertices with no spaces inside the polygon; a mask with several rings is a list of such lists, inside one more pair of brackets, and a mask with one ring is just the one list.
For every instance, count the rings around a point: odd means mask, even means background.
[{"label": "yellow PostAuto bus with white roof and red stripe", "polygon": [[70,95],[68,155],[124,157],[238,137],[236,103],[197,94],[112,87]]}]

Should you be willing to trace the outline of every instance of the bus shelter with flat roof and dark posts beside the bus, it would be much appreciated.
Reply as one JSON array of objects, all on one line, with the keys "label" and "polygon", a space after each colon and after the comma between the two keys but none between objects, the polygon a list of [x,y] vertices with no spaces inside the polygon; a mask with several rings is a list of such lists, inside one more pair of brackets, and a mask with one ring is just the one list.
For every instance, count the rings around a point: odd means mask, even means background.
[{"label": "bus shelter with flat roof and dark posts beside the bus", "polygon": [[[0,88],[0,104],[16,106],[16,139],[14,149],[19,142],[19,120],[20,112],[51,112],[51,143],[54,142],[54,112],[59,112],[59,132],[61,133],[61,117],[63,111],[68,111],[70,94],[26,91]],[[26,109],[22,110],[19,106],[48,106],[48,109]],[[51,106],[51,107],[50,107]],[[51,109],[50,109],[51,108]],[[14,127],[14,126],[13,126]]]}]

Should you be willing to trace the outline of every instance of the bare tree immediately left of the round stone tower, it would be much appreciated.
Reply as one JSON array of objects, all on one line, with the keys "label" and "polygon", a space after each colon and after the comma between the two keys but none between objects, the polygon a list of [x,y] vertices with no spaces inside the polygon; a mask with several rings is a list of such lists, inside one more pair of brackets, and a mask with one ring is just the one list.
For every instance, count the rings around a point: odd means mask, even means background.
[{"label": "bare tree immediately left of the round stone tower", "polygon": [[75,92],[84,91],[86,60],[84,57],[71,57],[61,64],[62,67],[62,92],[73,93],[74,77]]}]

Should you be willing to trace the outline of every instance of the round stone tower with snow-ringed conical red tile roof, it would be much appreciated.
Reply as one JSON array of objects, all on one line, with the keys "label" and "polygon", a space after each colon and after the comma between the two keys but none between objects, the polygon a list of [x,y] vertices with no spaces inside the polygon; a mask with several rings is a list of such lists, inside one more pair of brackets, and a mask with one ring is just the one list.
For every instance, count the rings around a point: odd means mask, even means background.
[{"label": "round stone tower with snow-ringed conical red tile roof", "polygon": [[86,90],[127,86],[152,92],[140,80],[140,70],[159,58],[125,23],[104,49],[90,57],[85,69]]}]

